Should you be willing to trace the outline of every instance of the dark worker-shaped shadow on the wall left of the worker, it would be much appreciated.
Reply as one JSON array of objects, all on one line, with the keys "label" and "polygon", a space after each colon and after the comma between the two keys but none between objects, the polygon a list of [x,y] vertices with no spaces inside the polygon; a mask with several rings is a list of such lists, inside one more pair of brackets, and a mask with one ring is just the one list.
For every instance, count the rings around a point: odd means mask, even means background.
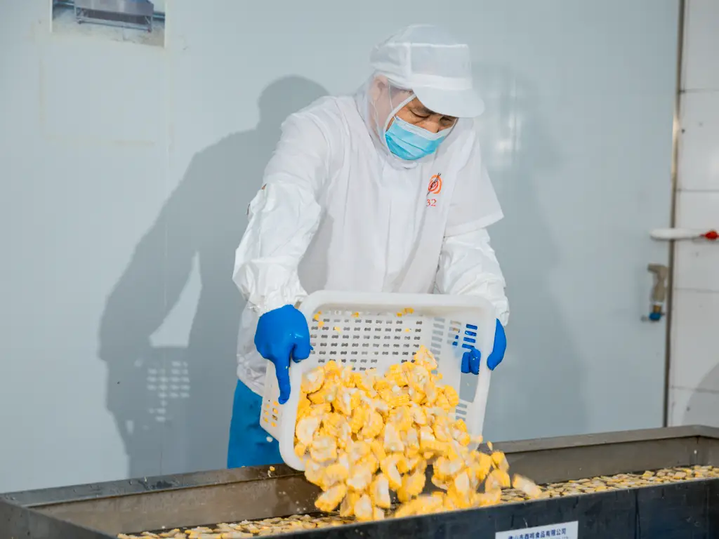
[{"label": "dark worker-shaped shadow on the wall left of the worker", "polygon": [[[291,113],[327,91],[288,77],[260,96],[260,123],[196,154],[112,290],[100,326],[114,415],[129,476],[226,466],[236,347],[244,306],[232,282],[247,206]],[[155,348],[198,257],[201,292],[188,347]]]}]

